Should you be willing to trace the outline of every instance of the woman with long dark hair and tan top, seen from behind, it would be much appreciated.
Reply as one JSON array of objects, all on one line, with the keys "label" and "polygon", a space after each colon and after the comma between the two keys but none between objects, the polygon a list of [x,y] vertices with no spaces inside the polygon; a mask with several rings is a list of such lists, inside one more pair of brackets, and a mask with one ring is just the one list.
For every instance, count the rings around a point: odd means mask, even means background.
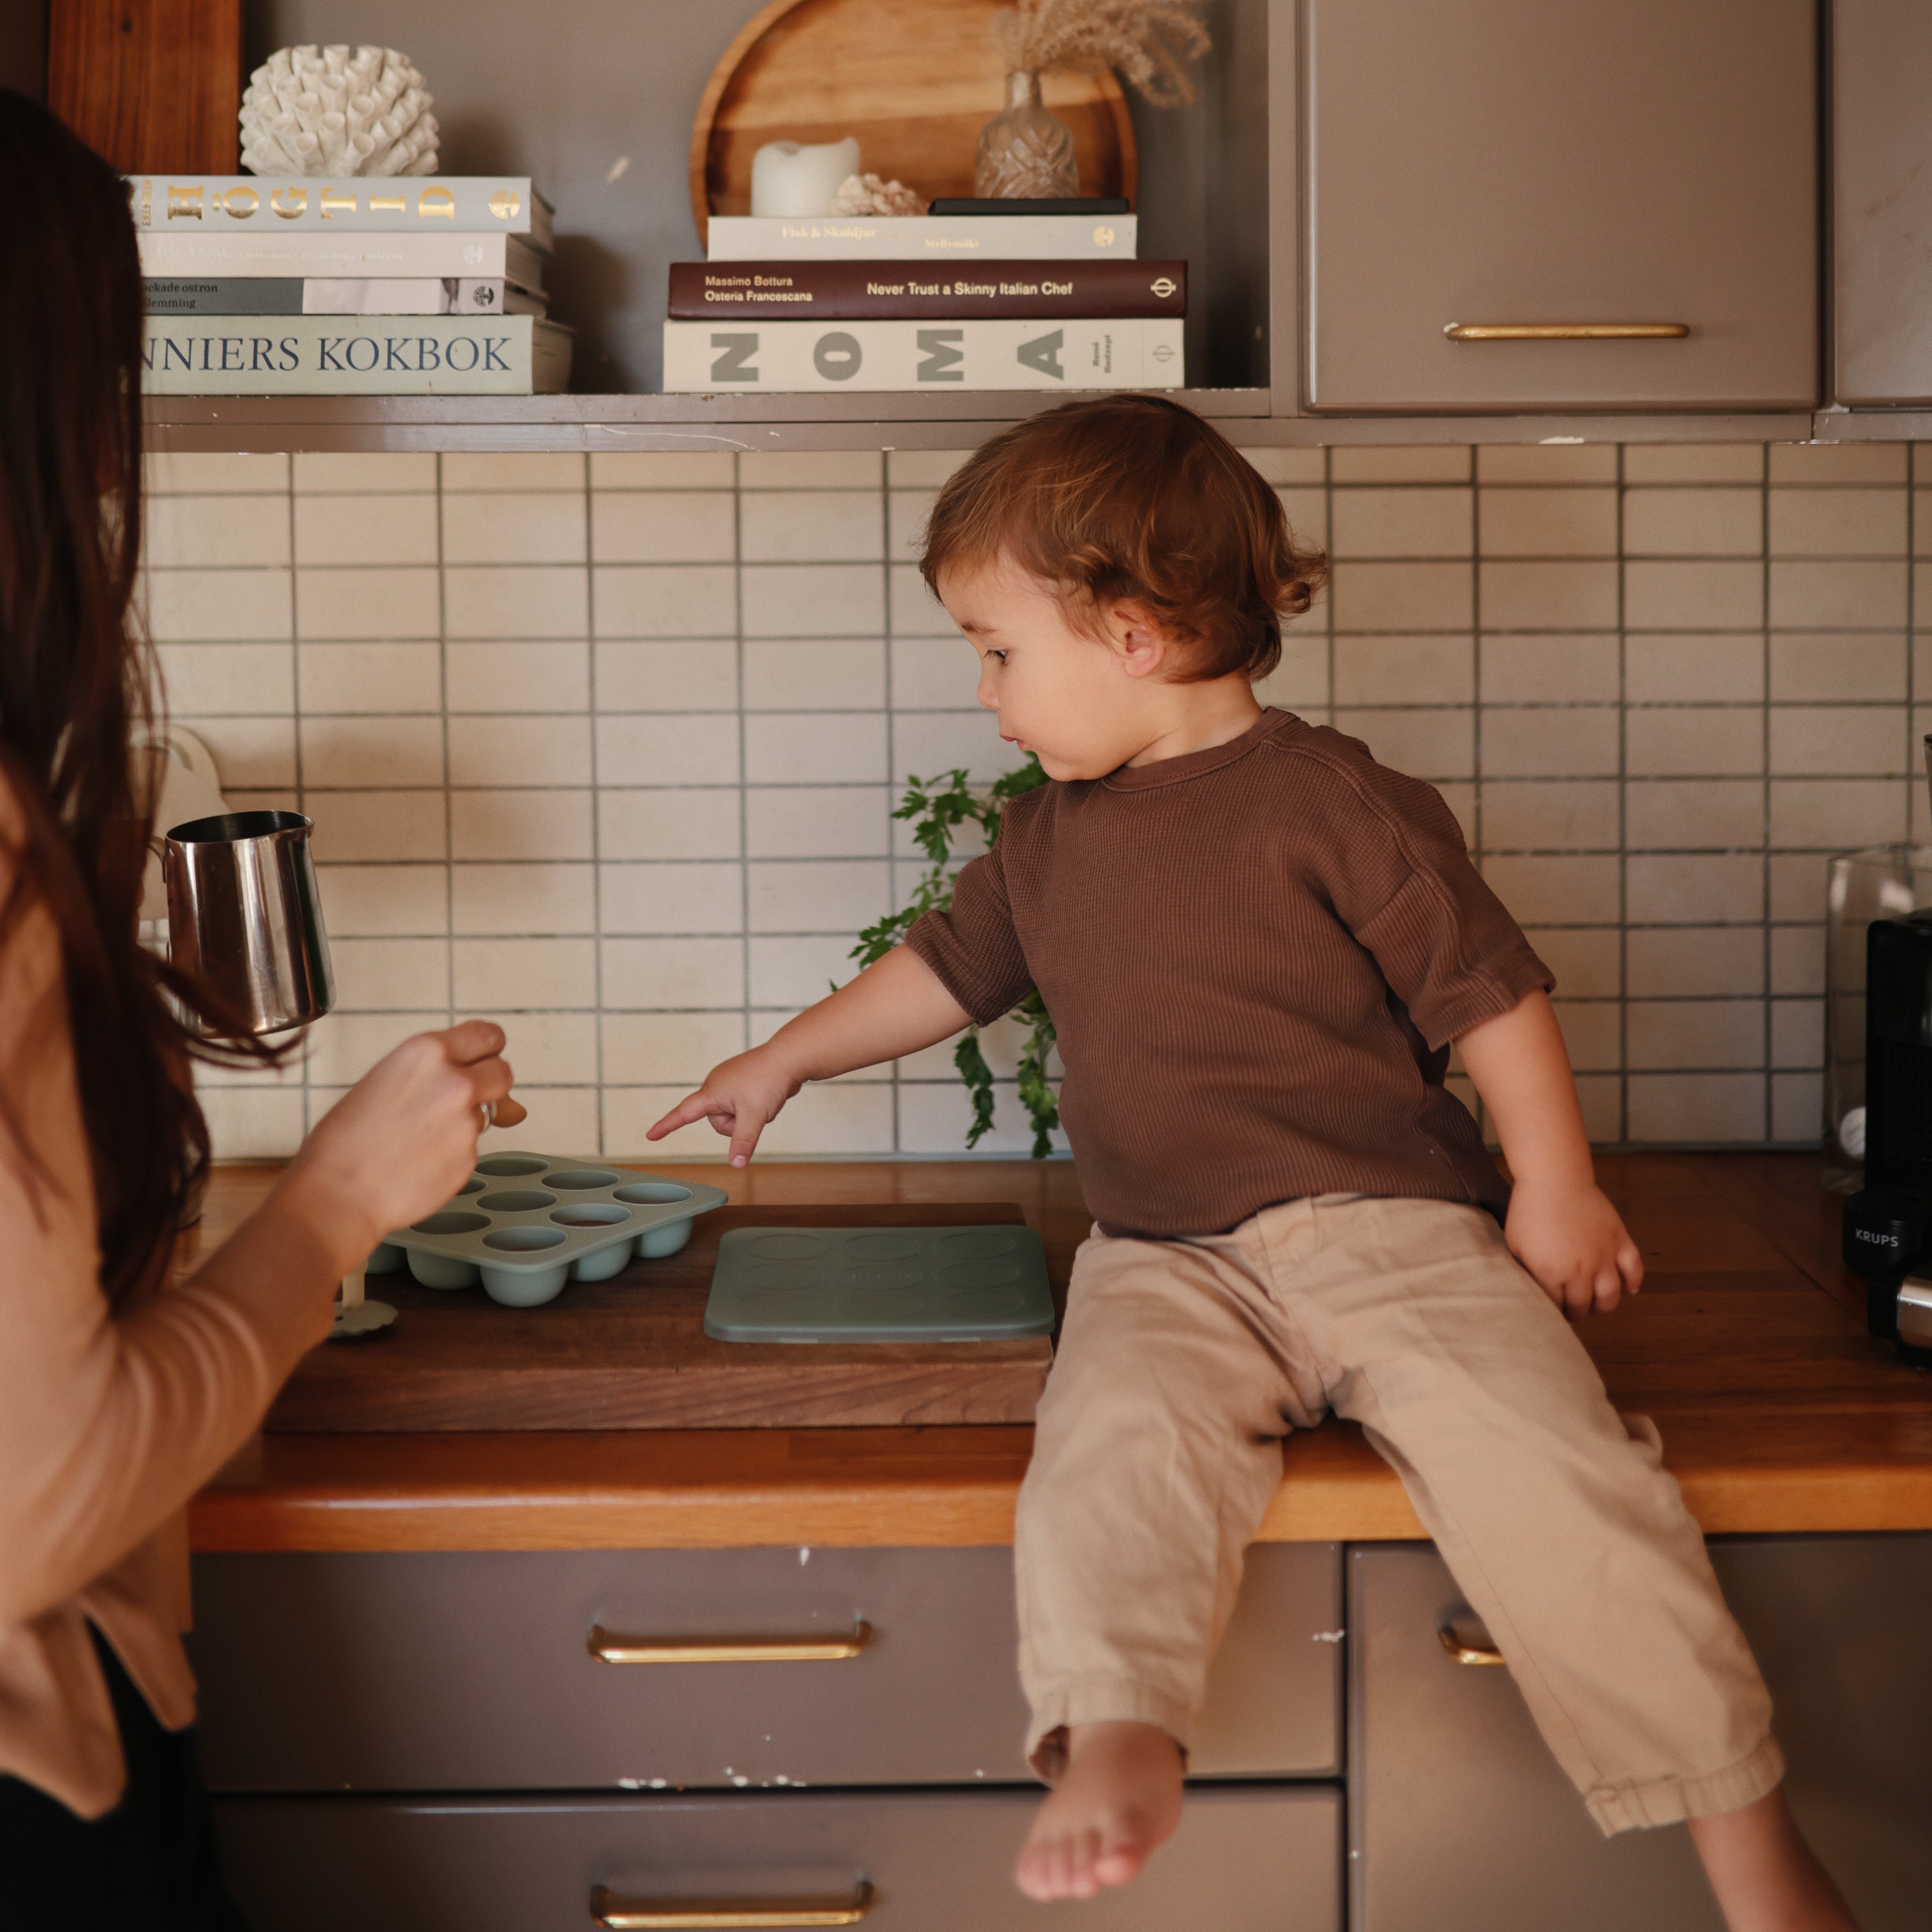
[{"label": "woman with long dark hair and tan top, seen from behind", "polygon": [[224,1014],[137,943],[141,263],[118,176],[8,91],[0,182],[0,1924],[203,1932],[238,1918],[187,1737],[184,1505],[342,1275],[522,1109],[497,1026],[410,1039],[168,1277],[209,1161],[180,1012]]}]

